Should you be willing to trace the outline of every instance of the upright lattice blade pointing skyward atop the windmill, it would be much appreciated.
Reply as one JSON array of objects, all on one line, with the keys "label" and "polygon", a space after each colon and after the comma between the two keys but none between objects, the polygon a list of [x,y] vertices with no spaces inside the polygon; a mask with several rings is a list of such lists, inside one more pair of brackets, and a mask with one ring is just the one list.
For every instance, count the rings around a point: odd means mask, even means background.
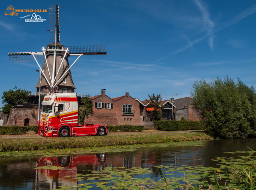
[{"label": "upright lattice blade pointing skyward atop the windmill", "polygon": [[55,42],[55,31],[56,31],[56,42],[60,42],[59,5],[49,6],[49,24],[50,24],[50,43]]}]

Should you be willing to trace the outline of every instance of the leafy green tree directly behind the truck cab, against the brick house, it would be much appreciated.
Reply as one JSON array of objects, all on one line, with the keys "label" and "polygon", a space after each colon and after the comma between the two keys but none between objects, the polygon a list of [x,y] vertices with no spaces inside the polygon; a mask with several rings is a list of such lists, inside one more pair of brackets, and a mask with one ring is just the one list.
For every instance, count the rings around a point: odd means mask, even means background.
[{"label": "leafy green tree directly behind the truck cab, against the brick house", "polygon": [[84,118],[88,118],[89,114],[92,114],[92,98],[90,95],[86,95],[86,97],[81,98],[82,106],[78,109],[78,121],[80,125],[84,124]]}]

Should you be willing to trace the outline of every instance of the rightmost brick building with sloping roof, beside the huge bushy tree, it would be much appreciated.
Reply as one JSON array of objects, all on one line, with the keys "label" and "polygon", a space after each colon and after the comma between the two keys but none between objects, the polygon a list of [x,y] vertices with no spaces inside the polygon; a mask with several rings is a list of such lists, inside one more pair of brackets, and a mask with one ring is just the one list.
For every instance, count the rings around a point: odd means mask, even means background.
[{"label": "rightmost brick building with sloping roof, beside the huge bushy tree", "polygon": [[191,97],[179,98],[175,101],[176,119],[183,116],[187,121],[200,121],[200,113],[192,105]]}]

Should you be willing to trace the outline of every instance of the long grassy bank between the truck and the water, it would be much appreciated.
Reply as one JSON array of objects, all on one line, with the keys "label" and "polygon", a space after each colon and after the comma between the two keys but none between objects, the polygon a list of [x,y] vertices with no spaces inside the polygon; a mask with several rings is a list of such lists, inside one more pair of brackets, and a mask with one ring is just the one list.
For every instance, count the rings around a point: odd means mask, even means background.
[{"label": "long grassy bank between the truck and the water", "polygon": [[171,143],[182,141],[210,140],[212,137],[201,132],[189,133],[128,133],[107,136],[84,136],[67,138],[46,137],[1,137],[0,152],[29,151],[44,149],[66,149],[79,147],[101,147],[136,145],[148,143]]}]

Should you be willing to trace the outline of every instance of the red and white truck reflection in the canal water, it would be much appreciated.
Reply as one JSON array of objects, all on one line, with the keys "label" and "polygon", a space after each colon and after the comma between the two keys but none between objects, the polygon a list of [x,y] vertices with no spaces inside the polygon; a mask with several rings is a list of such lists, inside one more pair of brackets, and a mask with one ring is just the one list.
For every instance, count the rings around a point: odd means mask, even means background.
[{"label": "red and white truck reflection in the canal water", "polygon": [[[60,157],[39,157],[37,159],[36,175],[38,184],[48,183],[49,189],[60,185],[76,186],[76,174],[90,174],[92,170],[102,171],[107,166],[108,155],[104,153],[90,155],[72,155]],[[49,168],[40,168],[49,166]],[[57,166],[57,167],[50,167]],[[40,168],[40,169],[39,169]],[[37,187],[38,188],[38,187]]]}]

